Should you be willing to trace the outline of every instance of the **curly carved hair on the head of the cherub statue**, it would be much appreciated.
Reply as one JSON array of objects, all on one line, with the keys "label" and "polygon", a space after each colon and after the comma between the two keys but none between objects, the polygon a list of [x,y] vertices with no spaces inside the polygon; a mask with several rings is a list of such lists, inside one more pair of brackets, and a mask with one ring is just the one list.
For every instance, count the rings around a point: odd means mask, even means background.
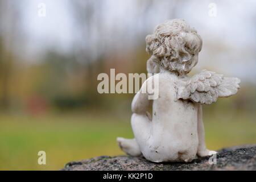
[{"label": "curly carved hair on the head of the cherub statue", "polygon": [[200,35],[183,19],[167,20],[155,28],[154,34],[146,36],[150,60],[179,74],[186,72],[185,64],[192,64],[191,56],[197,55],[201,48]]}]

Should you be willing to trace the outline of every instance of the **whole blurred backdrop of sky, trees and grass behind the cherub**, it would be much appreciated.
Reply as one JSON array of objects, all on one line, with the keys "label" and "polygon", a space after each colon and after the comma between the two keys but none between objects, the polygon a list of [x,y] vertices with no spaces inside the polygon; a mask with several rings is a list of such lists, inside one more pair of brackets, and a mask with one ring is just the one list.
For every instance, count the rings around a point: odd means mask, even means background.
[{"label": "whole blurred backdrop of sky, trees and grass behind the cherub", "polygon": [[[207,147],[256,143],[255,10],[249,0],[0,0],[0,169],[57,170],[123,154],[115,138],[133,138],[134,94],[99,94],[97,75],[146,73],[144,38],[172,18],[203,38],[191,74],[242,81],[236,96],[203,107]],[[38,164],[42,150],[46,165]]]}]

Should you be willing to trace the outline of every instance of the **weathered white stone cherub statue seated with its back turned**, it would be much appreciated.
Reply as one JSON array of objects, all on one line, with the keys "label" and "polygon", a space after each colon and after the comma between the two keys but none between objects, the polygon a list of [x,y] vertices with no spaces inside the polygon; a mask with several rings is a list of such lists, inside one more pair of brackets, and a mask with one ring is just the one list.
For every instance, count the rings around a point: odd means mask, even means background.
[{"label": "weathered white stone cherub statue seated with its back turned", "polygon": [[[205,146],[203,104],[237,93],[240,79],[202,71],[189,77],[197,64],[202,39],[183,19],[167,20],[146,37],[151,57],[147,71],[158,73],[159,96],[149,100],[141,90],[131,104],[134,139],[117,138],[131,156],[143,155],[152,162],[191,162],[197,156],[216,154]],[[152,108],[152,114],[148,108]]]}]

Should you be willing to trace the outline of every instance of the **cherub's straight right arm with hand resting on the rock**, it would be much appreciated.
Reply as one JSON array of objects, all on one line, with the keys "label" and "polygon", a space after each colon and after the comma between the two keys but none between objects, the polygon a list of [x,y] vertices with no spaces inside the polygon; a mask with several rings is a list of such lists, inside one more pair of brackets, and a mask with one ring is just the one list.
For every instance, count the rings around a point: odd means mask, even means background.
[{"label": "cherub's straight right arm with hand resting on the rock", "polygon": [[197,134],[199,139],[199,145],[197,148],[197,155],[207,156],[216,154],[216,151],[210,151],[205,145],[205,134],[204,134],[204,122],[203,122],[203,109],[202,105],[199,105],[197,112]]}]

